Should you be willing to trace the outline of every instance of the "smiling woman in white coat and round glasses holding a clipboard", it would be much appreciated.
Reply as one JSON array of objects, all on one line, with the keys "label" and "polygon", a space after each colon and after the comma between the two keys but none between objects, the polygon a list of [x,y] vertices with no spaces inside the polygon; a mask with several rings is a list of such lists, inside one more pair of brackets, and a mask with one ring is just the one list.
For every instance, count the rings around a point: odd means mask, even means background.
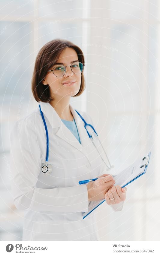
[{"label": "smiling woman in white coat and round glasses holding a clipboard", "polygon": [[16,207],[25,211],[23,241],[98,241],[94,212],[83,216],[104,198],[122,209],[125,189],[113,186],[80,115],[91,125],[92,119],[69,104],[85,89],[83,68],[83,52],[67,40],[52,40],[37,55],[32,93],[40,106],[11,134],[12,191]]}]

